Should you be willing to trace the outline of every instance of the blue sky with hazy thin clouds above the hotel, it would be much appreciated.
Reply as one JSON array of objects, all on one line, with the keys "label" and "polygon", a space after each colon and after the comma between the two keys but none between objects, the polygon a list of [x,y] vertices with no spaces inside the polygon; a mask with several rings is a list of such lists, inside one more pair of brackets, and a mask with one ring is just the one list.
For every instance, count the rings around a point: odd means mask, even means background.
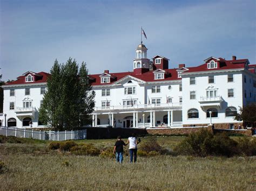
[{"label": "blue sky with hazy thin clouds above the hotel", "polygon": [[55,59],[90,74],[132,71],[140,28],[147,57],[198,66],[210,56],[256,64],[256,1],[0,0],[0,74],[50,72]]}]

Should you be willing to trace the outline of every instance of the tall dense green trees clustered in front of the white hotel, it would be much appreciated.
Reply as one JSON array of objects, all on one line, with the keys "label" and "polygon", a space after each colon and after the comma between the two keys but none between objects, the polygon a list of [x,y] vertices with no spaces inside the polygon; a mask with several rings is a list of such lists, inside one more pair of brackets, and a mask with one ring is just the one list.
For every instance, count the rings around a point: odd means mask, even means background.
[{"label": "tall dense green trees clustered in front of the white hotel", "polygon": [[39,121],[55,130],[72,130],[89,123],[95,94],[91,89],[86,64],[80,68],[71,58],[65,64],[55,60],[47,82]]}]

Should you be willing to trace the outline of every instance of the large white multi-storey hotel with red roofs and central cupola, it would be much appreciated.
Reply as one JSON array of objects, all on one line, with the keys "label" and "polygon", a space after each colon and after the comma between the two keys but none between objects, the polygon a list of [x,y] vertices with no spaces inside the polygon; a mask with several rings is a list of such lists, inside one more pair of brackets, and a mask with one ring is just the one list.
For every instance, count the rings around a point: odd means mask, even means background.
[{"label": "large white multi-storey hotel with red roofs and central cupola", "polygon": [[[151,61],[139,44],[131,66],[132,72],[90,75],[96,93],[92,126],[176,128],[212,121],[232,129],[241,124],[234,120],[239,108],[256,102],[256,65],[248,59],[210,57],[197,67],[169,69],[169,59],[156,55]],[[3,126],[44,127],[38,110],[49,75],[26,72],[3,86]]]}]

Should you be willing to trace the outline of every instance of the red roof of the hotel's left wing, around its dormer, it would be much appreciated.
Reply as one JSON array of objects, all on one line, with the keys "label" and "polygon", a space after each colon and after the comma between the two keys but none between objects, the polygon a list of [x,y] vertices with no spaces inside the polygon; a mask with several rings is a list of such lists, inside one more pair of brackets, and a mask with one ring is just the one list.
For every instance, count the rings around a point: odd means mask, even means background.
[{"label": "red roof of the hotel's left wing, around its dormer", "polygon": [[9,82],[9,83],[5,83],[5,85],[16,85],[16,84],[33,84],[33,83],[45,83],[47,82],[47,79],[48,77],[50,76],[51,74],[49,73],[45,73],[45,72],[39,72],[39,73],[36,73],[36,76],[35,76],[35,81],[33,82],[25,82],[25,75],[23,76],[19,76],[17,77],[17,80],[15,81],[12,81],[12,82]]}]

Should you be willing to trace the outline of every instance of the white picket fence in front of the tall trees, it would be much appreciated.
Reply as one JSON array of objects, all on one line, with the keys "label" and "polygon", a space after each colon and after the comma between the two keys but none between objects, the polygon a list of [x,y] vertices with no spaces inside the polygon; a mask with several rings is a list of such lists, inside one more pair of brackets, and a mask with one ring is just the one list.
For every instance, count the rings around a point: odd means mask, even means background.
[{"label": "white picket fence in front of the tall trees", "polygon": [[35,131],[31,129],[8,128],[1,126],[0,135],[39,140],[77,140],[86,139],[86,130],[77,131]]}]

